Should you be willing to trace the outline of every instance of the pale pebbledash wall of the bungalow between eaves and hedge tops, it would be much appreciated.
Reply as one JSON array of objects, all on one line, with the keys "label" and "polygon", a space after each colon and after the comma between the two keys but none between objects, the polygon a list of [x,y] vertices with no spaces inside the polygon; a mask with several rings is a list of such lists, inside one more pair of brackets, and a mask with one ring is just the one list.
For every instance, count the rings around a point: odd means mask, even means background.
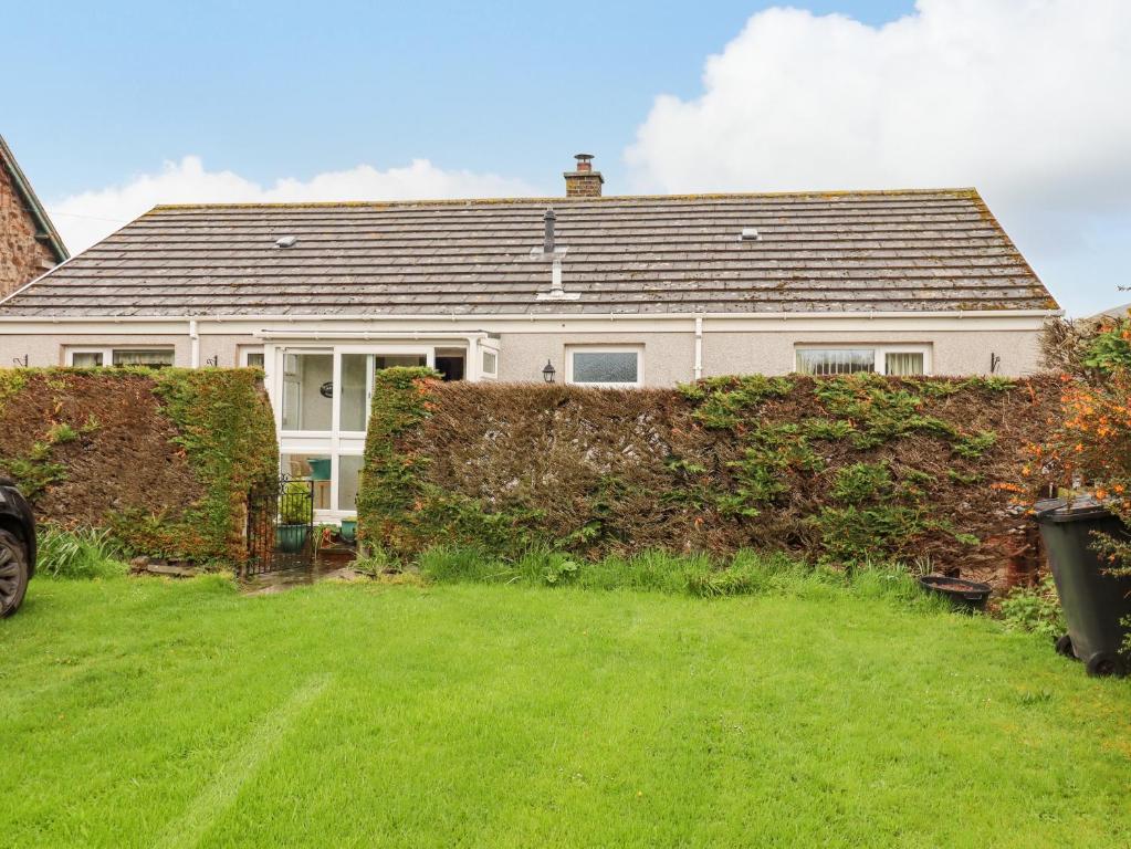
[{"label": "pale pebbledash wall of the bungalow between eaves and hedge tops", "polygon": [[[181,366],[240,364],[242,347],[264,344],[257,332],[286,332],[295,346],[342,344],[343,333],[381,333],[381,341],[425,338],[429,331],[486,331],[498,338],[500,381],[541,381],[549,361],[566,379],[571,346],[634,346],[642,352],[642,382],[671,387],[697,376],[720,374],[786,374],[794,370],[795,350],[804,346],[925,345],[930,371],[939,375],[991,372],[1024,376],[1041,370],[1038,338],[1044,315],[960,317],[700,317],[633,319],[594,318],[461,318],[459,320],[320,320],[250,321],[201,319],[188,321],[51,322],[0,321],[0,365],[62,365],[68,347],[172,347]],[[697,336],[697,324],[699,335]],[[193,332],[196,354],[193,354]],[[334,335],[333,341],[329,335]],[[375,339],[373,339],[375,341]],[[26,361],[25,361],[26,357]]]}]

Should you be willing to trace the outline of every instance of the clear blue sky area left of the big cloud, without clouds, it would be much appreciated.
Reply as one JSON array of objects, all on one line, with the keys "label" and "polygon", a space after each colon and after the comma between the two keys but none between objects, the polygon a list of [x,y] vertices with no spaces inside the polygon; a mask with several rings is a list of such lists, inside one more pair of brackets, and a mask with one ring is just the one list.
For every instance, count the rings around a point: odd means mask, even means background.
[{"label": "clear blue sky area left of the big cloud, without clouds", "polygon": [[[578,150],[605,172],[658,93],[768,2],[14,3],[2,131],[44,197],[185,154],[252,180],[429,158],[547,191]],[[912,2],[805,3],[870,23]]]}]

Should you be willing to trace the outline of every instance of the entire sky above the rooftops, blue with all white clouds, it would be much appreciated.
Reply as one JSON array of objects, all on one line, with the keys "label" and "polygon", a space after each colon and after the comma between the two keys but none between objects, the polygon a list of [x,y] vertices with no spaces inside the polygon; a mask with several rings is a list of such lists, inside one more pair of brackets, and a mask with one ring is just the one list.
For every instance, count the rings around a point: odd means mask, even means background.
[{"label": "entire sky above the rooftops, blue with all white clouds", "polygon": [[794,5],[19,3],[0,132],[78,248],[158,201],[553,194],[588,150],[614,193],[976,184],[1071,311],[1131,300],[1131,3]]}]

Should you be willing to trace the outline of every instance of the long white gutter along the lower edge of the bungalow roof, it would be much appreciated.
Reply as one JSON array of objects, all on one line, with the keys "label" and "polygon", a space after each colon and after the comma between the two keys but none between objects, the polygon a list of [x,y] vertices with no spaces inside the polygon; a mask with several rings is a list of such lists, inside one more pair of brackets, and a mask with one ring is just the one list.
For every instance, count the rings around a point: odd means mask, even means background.
[{"label": "long white gutter along the lower edge of the bungalow roof", "polygon": [[[396,313],[361,313],[355,315],[320,315],[310,313],[295,315],[254,314],[254,315],[208,315],[198,317],[196,320],[206,323],[223,324],[225,322],[239,323],[248,321],[280,321],[280,322],[314,322],[314,321],[584,321],[595,319],[608,319],[610,321],[687,321],[696,315],[705,319],[743,319],[754,321],[789,321],[789,320],[813,320],[813,319],[961,319],[961,318],[1056,318],[1063,315],[1063,310],[923,310],[917,312],[866,312],[841,311],[841,312],[663,312],[663,313],[593,313],[593,312],[566,312],[566,313],[468,313],[466,315],[455,315],[441,313],[435,315],[425,314],[396,314]],[[181,323],[184,315],[0,315],[2,324],[29,324],[34,322],[44,323]]]}]

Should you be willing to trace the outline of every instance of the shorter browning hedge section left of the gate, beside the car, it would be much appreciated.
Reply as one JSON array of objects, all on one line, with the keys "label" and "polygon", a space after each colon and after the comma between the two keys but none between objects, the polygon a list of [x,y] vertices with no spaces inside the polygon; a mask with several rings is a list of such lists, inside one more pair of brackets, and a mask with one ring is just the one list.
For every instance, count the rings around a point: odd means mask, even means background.
[{"label": "shorter browning hedge section left of the gate, beside the car", "polygon": [[252,369],[0,371],[0,470],[41,520],[102,527],[138,554],[245,556],[248,493],[278,474]]}]

